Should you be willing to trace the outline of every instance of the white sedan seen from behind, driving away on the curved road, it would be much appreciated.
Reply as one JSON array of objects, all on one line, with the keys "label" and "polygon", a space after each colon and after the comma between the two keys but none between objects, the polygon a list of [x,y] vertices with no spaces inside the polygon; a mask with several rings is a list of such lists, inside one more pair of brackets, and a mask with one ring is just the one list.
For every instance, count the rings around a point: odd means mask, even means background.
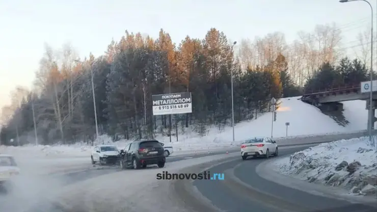
[{"label": "white sedan seen from behind, driving away on the curved road", "polygon": [[248,139],[241,145],[241,157],[246,160],[248,156],[257,157],[263,155],[268,158],[270,155],[278,156],[279,149],[276,141],[271,138],[257,137]]}]

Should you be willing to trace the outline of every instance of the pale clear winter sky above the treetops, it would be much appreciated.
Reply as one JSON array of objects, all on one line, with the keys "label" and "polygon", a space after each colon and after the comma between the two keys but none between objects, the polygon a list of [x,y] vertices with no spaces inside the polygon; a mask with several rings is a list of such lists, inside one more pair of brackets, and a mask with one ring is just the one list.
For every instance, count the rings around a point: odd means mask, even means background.
[{"label": "pale clear winter sky above the treetops", "polygon": [[[376,12],[377,0],[369,1]],[[280,31],[290,42],[299,31],[335,22],[347,47],[370,27],[370,14],[365,2],[338,0],[0,0],[0,107],[16,86],[32,88],[44,43],[69,42],[83,59],[102,55],[125,30],[156,38],[163,28],[176,43],[213,27],[232,41]]]}]

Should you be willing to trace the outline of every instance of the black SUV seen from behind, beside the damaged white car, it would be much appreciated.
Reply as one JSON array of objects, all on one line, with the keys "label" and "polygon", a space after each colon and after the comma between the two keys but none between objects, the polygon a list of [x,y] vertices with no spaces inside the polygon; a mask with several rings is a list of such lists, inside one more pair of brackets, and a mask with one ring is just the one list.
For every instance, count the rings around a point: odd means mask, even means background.
[{"label": "black SUV seen from behind, beside the damaged white car", "polygon": [[120,166],[122,169],[146,168],[147,165],[165,166],[164,147],[155,140],[134,141],[120,150]]}]

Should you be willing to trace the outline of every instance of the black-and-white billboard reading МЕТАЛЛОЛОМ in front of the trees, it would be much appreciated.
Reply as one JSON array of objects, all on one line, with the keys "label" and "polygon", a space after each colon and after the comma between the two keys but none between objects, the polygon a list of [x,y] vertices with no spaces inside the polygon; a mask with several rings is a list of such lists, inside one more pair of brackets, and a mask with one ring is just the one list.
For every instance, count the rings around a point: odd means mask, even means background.
[{"label": "black-and-white billboard reading \u041c\u0415\u0422\u0410\u041b\u041b\u041e\u041b\u041e\u041c in front of the trees", "polygon": [[169,93],[152,95],[154,116],[192,113],[191,93]]}]

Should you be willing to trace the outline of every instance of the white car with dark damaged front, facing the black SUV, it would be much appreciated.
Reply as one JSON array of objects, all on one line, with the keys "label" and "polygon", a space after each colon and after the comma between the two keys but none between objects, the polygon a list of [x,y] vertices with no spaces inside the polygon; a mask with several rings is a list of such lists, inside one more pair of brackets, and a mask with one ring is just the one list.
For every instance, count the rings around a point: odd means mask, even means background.
[{"label": "white car with dark damaged front, facing the black SUV", "polygon": [[119,162],[119,150],[114,145],[95,146],[90,155],[92,164],[117,164]]}]

